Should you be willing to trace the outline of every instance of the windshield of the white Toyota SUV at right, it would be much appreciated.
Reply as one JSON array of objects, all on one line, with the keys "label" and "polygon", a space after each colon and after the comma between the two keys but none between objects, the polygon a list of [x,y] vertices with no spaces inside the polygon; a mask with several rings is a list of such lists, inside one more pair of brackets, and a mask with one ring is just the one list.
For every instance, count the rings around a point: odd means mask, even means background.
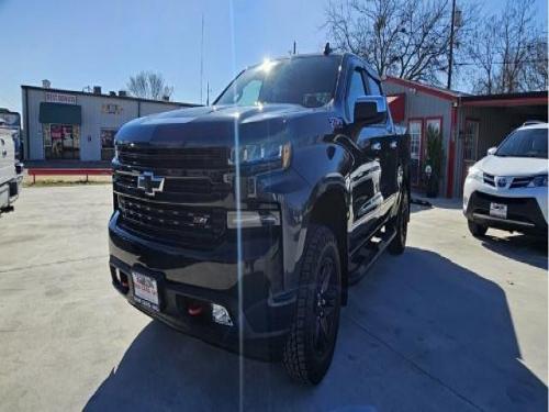
[{"label": "windshield of the white Toyota SUV at right", "polygon": [[547,129],[523,129],[512,133],[495,155],[547,158]]}]

